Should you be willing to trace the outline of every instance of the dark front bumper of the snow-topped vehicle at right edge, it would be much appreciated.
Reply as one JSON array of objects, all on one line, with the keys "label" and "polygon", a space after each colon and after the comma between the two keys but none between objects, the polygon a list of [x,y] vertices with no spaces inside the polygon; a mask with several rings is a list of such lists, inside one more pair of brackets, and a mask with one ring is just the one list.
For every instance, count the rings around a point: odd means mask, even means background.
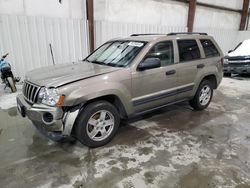
[{"label": "dark front bumper of the snow-topped vehicle at right edge", "polygon": [[230,65],[227,64],[223,68],[224,73],[232,74],[250,74],[250,64],[239,64],[239,65]]}]

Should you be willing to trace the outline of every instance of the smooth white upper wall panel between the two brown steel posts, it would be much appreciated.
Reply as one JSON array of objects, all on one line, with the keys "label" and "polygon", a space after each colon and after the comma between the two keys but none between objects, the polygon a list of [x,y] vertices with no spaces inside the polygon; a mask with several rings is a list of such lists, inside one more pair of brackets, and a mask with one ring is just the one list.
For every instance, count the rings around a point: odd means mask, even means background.
[{"label": "smooth white upper wall panel between the two brown steel posts", "polygon": [[95,19],[110,22],[186,26],[188,6],[171,0],[95,0]]}]

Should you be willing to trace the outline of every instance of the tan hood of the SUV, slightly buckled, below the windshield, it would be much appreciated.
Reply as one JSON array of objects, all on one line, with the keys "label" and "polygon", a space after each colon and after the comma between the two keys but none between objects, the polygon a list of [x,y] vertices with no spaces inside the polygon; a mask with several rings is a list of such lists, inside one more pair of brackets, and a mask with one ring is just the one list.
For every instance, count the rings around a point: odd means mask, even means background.
[{"label": "tan hood of the SUV, slightly buckled, below the windshield", "polygon": [[35,69],[28,72],[25,79],[39,86],[59,87],[119,69],[88,62],[68,63]]}]

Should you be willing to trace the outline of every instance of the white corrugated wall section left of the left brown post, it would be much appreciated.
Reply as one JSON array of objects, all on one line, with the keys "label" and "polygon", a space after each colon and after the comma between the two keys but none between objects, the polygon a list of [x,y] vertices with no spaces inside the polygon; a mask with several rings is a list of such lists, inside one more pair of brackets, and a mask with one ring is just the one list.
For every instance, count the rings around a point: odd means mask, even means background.
[{"label": "white corrugated wall section left of the left brown post", "polygon": [[51,43],[57,64],[77,61],[88,54],[86,20],[0,15],[0,55],[16,76],[52,65]]}]

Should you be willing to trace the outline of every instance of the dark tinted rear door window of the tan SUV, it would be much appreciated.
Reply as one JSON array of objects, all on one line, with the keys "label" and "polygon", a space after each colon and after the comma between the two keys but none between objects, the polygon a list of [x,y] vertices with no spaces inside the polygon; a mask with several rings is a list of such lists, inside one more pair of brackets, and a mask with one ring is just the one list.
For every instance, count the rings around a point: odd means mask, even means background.
[{"label": "dark tinted rear door window of the tan SUV", "polygon": [[201,58],[196,40],[178,40],[180,62]]}]

